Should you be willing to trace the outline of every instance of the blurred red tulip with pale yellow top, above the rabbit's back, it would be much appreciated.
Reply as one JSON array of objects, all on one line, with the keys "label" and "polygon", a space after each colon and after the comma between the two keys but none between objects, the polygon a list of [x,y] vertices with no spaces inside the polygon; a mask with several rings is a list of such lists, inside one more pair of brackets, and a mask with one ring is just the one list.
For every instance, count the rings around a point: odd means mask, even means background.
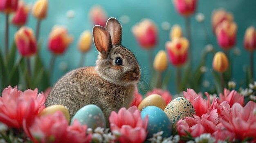
[{"label": "blurred red tulip with pale yellow top, above the rabbit's back", "polygon": [[73,41],[73,37],[67,35],[67,29],[63,26],[54,26],[49,34],[48,48],[54,54],[63,54]]}]

